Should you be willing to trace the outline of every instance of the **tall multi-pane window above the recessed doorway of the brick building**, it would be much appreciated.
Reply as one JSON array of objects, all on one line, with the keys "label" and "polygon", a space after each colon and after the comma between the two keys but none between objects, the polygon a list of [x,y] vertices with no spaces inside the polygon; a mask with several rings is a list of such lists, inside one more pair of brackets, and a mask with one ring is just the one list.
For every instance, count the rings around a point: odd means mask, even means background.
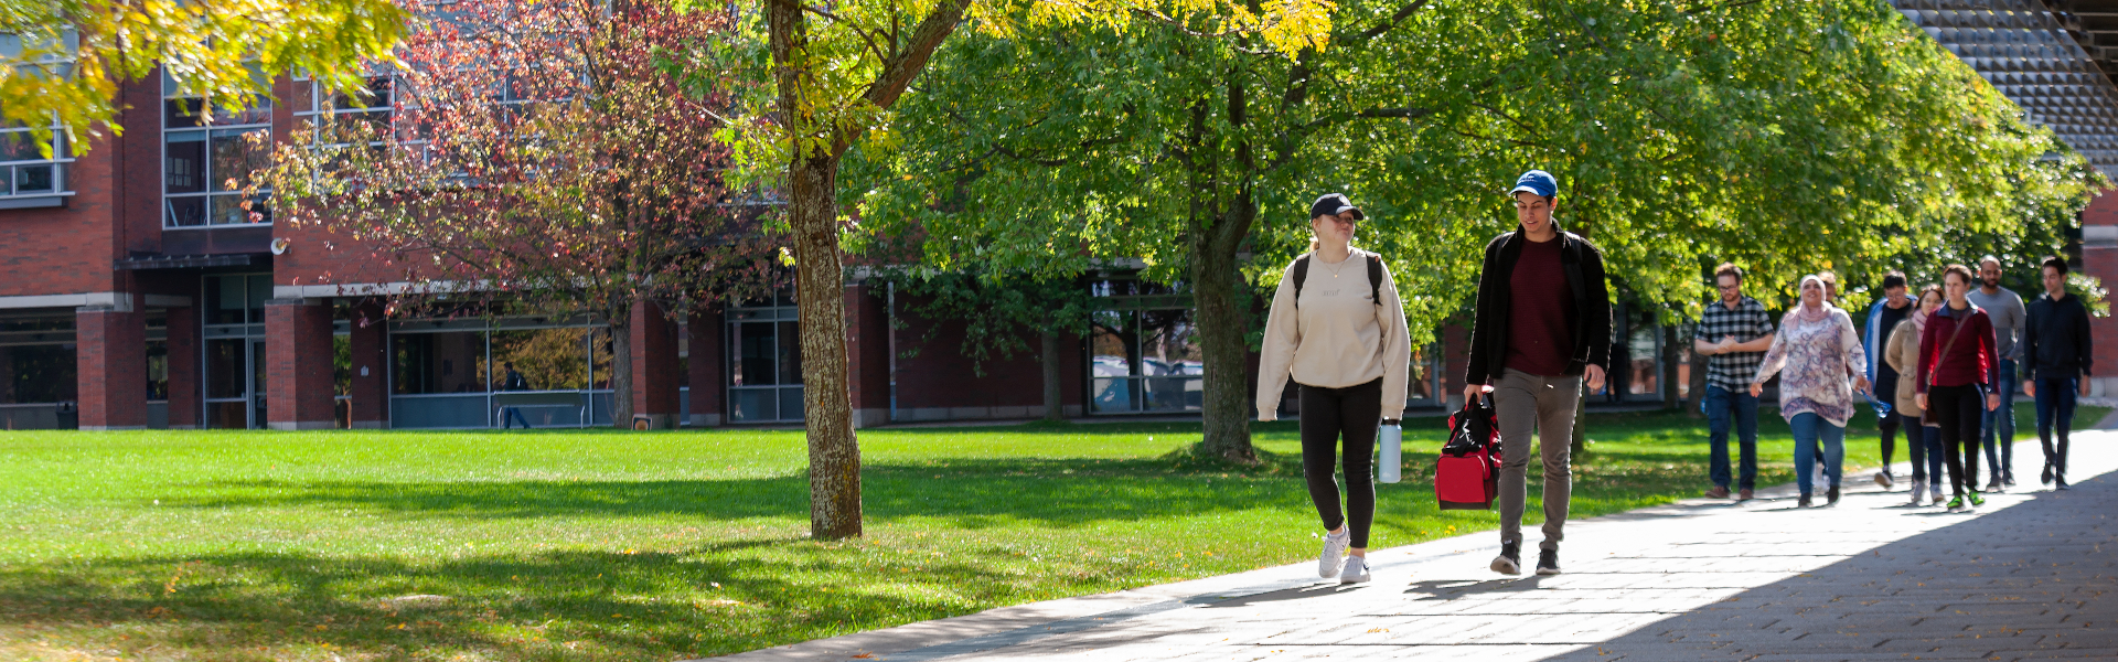
[{"label": "tall multi-pane window above the recessed doorway of the brick building", "polygon": [[271,223],[269,191],[246,193],[271,166],[271,98],[208,112],[203,98],[176,95],[163,76],[163,227]]}]

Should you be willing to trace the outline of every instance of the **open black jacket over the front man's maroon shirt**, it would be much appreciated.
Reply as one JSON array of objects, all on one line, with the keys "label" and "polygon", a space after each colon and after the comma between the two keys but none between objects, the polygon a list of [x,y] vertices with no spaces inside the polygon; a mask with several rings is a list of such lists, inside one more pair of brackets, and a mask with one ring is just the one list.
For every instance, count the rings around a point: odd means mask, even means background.
[{"label": "open black jacket over the front man's maroon shirt", "polygon": [[[1478,308],[1470,327],[1470,367],[1464,369],[1464,384],[1491,384],[1508,367],[1508,303],[1512,299],[1508,278],[1514,276],[1514,261],[1523,255],[1521,229],[1502,233],[1485,244],[1485,267],[1478,269]],[[1559,263],[1567,272],[1567,291],[1574,293],[1574,356],[1567,373],[1578,376],[1588,365],[1610,369],[1610,291],[1603,286],[1603,252],[1588,240],[1559,231]]]}]

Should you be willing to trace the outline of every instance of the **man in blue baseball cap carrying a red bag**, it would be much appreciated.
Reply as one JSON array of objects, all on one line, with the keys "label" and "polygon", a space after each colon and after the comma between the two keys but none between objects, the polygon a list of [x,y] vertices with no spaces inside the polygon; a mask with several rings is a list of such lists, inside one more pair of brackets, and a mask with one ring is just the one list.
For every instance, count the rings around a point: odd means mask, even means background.
[{"label": "man in blue baseball cap carrying a red bag", "polygon": [[1569,443],[1582,386],[1603,388],[1610,365],[1610,293],[1603,252],[1561,231],[1559,180],[1531,170],[1514,178],[1516,229],[1485,246],[1478,306],[1470,331],[1464,401],[1493,397],[1500,418],[1500,556],[1491,569],[1523,571],[1523,503],[1529,499],[1529,433],[1544,458],[1544,543],[1538,575],[1559,575],[1567,501],[1574,494]]}]

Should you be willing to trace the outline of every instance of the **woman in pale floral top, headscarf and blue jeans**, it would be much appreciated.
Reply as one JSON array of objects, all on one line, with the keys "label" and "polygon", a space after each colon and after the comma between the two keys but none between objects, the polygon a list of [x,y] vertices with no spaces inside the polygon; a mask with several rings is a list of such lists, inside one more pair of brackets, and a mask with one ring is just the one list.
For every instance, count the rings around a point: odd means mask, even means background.
[{"label": "woman in pale floral top, headscarf and blue jeans", "polygon": [[[1779,335],[1749,382],[1749,395],[1764,390],[1764,380],[1779,378],[1779,416],[1794,426],[1794,482],[1802,488],[1798,507],[1809,507],[1811,467],[1817,463],[1817,441],[1824,441],[1824,473],[1830,480],[1826,505],[1838,503],[1838,477],[1845,465],[1847,418],[1853,418],[1853,393],[1868,390],[1862,373],[1868,354],[1845,310],[1824,301],[1824,280],[1802,276],[1802,303],[1779,318]],[[1847,384],[1851,378],[1851,386]]]}]

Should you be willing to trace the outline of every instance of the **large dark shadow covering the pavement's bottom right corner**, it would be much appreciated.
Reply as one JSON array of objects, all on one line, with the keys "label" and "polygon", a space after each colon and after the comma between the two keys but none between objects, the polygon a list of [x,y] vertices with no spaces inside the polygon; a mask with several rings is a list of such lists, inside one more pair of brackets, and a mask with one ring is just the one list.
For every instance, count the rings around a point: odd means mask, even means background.
[{"label": "large dark shadow covering the pavement's bottom right corner", "polygon": [[1917,513],[1963,522],[1548,660],[2118,660],[2112,513],[2112,475],[1976,518]]}]

